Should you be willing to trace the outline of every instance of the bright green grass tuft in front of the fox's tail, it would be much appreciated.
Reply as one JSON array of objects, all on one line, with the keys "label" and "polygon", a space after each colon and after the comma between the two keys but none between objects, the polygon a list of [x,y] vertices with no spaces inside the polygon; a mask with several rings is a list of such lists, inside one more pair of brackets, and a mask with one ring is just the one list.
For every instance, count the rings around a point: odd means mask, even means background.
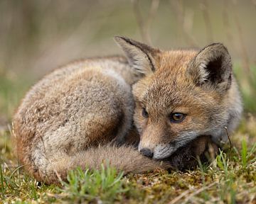
[{"label": "bright green grass tuft in front of the fox's tail", "polygon": [[111,166],[106,168],[102,165],[100,171],[87,169],[85,172],[78,168],[70,171],[68,182],[62,182],[63,188],[60,188],[60,192],[68,199],[79,203],[85,200],[104,200],[112,203],[121,199],[122,193],[128,190],[124,187],[122,176],[122,173],[117,174]]}]

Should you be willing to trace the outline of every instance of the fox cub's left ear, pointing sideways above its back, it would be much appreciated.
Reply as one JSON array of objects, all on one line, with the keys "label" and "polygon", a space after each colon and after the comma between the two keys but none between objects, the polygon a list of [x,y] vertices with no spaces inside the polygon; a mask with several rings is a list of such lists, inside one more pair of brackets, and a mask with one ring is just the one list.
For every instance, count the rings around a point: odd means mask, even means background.
[{"label": "fox cub's left ear, pointing sideways above its back", "polygon": [[141,74],[149,74],[155,71],[156,61],[154,55],[160,52],[142,42],[116,36],[114,40],[122,48],[131,67]]}]

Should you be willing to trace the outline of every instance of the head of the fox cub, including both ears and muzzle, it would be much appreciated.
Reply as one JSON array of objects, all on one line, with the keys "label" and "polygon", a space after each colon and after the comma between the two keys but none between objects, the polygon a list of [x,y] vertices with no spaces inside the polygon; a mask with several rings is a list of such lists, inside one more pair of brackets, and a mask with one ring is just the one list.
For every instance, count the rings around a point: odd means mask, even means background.
[{"label": "head of the fox cub, including both ears and muzzle", "polygon": [[115,40],[142,76],[132,91],[139,151],[145,156],[164,159],[201,135],[218,137],[239,117],[232,109],[240,99],[234,98],[230,55],[222,44],[161,51],[129,38]]}]

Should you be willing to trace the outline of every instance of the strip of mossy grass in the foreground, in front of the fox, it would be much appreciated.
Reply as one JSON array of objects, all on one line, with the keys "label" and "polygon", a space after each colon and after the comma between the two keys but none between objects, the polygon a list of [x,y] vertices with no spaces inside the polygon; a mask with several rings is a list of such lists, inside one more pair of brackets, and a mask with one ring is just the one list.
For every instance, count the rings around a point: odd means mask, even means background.
[{"label": "strip of mossy grass in the foreground, in front of the fox", "polygon": [[212,164],[194,171],[159,170],[122,177],[102,166],[100,171],[70,171],[68,182],[60,186],[38,183],[2,163],[0,198],[3,203],[249,203],[256,195],[256,149],[252,146],[244,152],[242,145],[238,147],[238,152],[220,151]]}]

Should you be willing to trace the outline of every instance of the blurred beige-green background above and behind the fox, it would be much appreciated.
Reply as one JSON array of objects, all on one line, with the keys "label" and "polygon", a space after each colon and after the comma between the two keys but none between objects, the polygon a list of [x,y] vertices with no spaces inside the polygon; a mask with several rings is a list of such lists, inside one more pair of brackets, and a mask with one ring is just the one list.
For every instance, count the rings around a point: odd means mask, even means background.
[{"label": "blurred beige-green background above and behind the fox", "polygon": [[84,57],[122,54],[125,35],[161,49],[223,42],[245,113],[256,113],[256,1],[0,1],[0,127],[43,74]]}]

